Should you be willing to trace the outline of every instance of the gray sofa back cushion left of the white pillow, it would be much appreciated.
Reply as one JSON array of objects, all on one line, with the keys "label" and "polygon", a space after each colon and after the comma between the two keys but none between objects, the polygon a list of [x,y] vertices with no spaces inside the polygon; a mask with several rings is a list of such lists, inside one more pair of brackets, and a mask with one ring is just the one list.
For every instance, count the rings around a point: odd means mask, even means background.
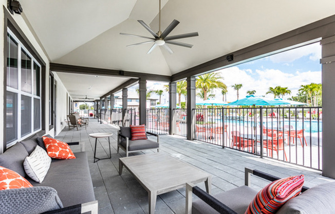
[{"label": "gray sofa back cushion left of the white pillow", "polygon": [[23,162],[28,155],[26,148],[20,142],[16,142],[14,146],[0,154],[0,166],[26,177],[27,174],[23,167]]}]

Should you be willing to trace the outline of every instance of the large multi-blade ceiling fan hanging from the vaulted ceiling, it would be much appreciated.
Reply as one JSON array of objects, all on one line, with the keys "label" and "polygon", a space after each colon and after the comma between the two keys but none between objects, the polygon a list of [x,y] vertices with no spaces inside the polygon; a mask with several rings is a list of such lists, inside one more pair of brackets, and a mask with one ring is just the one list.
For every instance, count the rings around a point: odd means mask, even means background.
[{"label": "large multi-blade ceiling fan hanging from the vaulted ceiling", "polygon": [[173,20],[172,23],[167,26],[167,28],[161,32],[160,31],[160,0],[159,0],[159,30],[157,33],[155,33],[148,25],[146,25],[142,20],[137,20],[147,31],[149,31],[154,38],[150,37],[144,37],[142,35],[135,35],[135,34],[129,34],[129,33],[120,33],[121,35],[129,35],[131,37],[139,37],[139,38],[144,38],[144,39],[150,39],[150,41],[146,42],[140,42],[132,45],[127,45],[127,47],[131,46],[136,46],[136,45],[142,45],[142,44],[147,44],[147,43],[154,43],[153,46],[148,50],[147,53],[151,53],[156,46],[162,46],[164,47],[169,53],[173,53],[173,50],[167,45],[179,45],[182,47],[188,47],[191,48],[193,45],[183,43],[183,42],[177,42],[177,41],[172,41],[176,39],[183,39],[183,38],[189,38],[189,37],[197,37],[199,34],[198,32],[193,32],[193,33],[184,33],[184,34],[179,34],[179,35],[172,35],[170,37],[167,37],[169,33],[179,24],[177,20]]}]

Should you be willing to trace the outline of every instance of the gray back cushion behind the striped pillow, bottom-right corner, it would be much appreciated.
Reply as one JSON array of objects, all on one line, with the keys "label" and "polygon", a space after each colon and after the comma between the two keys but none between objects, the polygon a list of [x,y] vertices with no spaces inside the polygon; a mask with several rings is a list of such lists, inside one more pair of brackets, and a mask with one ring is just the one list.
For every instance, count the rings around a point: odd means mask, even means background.
[{"label": "gray back cushion behind the striped pillow, bottom-right corner", "polygon": [[277,214],[335,213],[335,182],[320,184],[286,202]]}]

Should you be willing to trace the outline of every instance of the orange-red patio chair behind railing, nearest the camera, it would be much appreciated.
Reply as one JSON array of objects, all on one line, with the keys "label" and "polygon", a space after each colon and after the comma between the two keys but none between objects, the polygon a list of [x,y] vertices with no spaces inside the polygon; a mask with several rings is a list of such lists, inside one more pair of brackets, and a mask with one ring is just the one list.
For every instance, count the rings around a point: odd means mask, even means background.
[{"label": "orange-red patio chair behind railing, nearest the camera", "polygon": [[272,140],[263,140],[263,147],[269,150],[269,157],[272,157],[272,150],[277,151],[277,156],[279,151],[284,150],[285,159],[287,161],[287,156],[284,148],[284,134],[283,132],[276,132],[268,134],[269,137],[272,137]]}]

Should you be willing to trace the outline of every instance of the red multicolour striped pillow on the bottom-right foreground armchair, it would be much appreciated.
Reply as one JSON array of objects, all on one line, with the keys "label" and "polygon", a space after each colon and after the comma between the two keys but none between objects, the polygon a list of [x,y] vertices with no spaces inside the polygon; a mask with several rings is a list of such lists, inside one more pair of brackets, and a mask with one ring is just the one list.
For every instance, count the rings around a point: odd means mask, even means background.
[{"label": "red multicolour striped pillow on the bottom-right foreground armchair", "polygon": [[286,177],[268,184],[257,193],[245,214],[275,213],[285,202],[301,192],[303,184],[304,175]]}]

